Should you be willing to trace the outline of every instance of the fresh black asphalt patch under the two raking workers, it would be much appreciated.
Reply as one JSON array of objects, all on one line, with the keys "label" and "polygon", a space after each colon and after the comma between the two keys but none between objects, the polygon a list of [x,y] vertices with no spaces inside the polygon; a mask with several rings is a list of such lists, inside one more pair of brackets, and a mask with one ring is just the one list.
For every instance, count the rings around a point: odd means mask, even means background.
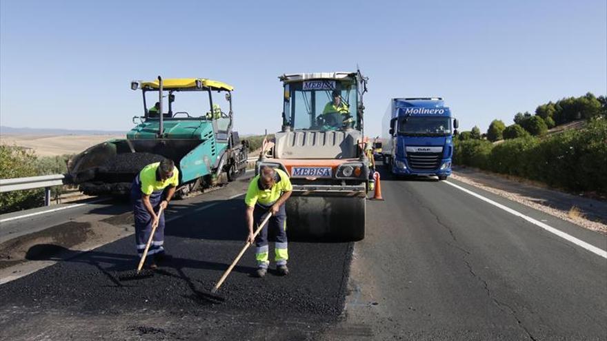
[{"label": "fresh black asphalt patch under the two raking workers", "polygon": [[[20,307],[17,310],[21,313],[59,310],[66,315],[89,316],[143,311],[162,311],[162,316],[240,314],[249,316],[247,320],[261,318],[277,326],[290,318],[310,317],[309,322],[322,323],[336,320],[344,306],[352,254],[352,243],[348,242],[290,242],[290,275],[281,277],[270,271],[261,279],[251,276],[255,255],[254,247],[250,247],[217,293],[221,300],[210,295],[212,286],[244,245],[242,201],[234,198],[217,202],[210,209],[167,223],[165,245],[172,260],[150,278],[120,279],[122,273],[137,265],[134,237],[75,257],[70,250],[57,252],[55,247],[54,256],[36,259],[59,260],[56,265],[2,286],[3,314],[11,311],[10,307]],[[52,249],[50,245],[37,247]],[[3,324],[11,320],[11,316],[4,316]],[[315,330],[322,325],[317,324]],[[250,328],[243,324],[242,333]],[[225,330],[216,336],[227,338],[233,333]]]}]

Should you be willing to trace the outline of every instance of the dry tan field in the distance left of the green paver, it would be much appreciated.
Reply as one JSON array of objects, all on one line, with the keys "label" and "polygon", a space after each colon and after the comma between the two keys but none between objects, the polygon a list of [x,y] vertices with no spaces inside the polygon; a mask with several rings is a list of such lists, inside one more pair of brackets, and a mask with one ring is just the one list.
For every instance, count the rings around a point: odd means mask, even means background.
[{"label": "dry tan field in the distance left of the green paver", "polygon": [[32,149],[39,156],[57,156],[76,154],[84,149],[108,141],[112,138],[124,138],[117,135],[21,135],[2,134],[0,143],[17,145]]}]

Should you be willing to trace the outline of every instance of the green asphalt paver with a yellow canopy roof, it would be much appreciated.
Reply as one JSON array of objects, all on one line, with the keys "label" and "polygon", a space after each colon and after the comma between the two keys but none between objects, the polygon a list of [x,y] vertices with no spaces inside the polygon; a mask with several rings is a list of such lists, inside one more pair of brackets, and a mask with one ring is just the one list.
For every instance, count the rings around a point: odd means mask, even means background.
[{"label": "green asphalt paver with a yellow canopy roof", "polygon": [[231,85],[159,76],[132,81],[131,89],[143,94],[143,116],[132,118],[137,125],[126,138],[94,145],[68,161],[68,175],[84,194],[128,194],[141,168],[162,158],[179,169],[177,196],[243,174],[247,143],[232,131]]}]

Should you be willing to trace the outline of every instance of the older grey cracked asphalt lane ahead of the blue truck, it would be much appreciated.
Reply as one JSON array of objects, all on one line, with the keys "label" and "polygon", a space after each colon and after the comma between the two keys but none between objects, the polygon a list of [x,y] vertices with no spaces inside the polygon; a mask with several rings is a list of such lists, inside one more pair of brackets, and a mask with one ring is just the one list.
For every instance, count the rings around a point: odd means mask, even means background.
[{"label": "older grey cracked asphalt lane ahead of the blue truck", "polygon": [[[607,236],[448,180],[607,249]],[[446,183],[382,174],[321,340],[607,340],[607,260]]]}]

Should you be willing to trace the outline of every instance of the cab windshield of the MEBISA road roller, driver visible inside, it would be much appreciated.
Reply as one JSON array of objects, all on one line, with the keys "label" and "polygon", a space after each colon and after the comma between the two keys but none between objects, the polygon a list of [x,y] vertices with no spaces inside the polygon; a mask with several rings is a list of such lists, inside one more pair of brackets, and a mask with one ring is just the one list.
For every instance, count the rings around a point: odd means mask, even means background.
[{"label": "cab windshield of the MEBISA road roller, driver visible inside", "polygon": [[[285,123],[294,130],[359,130],[357,88],[354,84],[314,81],[285,85]],[[311,82],[310,82],[311,83]]]}]

